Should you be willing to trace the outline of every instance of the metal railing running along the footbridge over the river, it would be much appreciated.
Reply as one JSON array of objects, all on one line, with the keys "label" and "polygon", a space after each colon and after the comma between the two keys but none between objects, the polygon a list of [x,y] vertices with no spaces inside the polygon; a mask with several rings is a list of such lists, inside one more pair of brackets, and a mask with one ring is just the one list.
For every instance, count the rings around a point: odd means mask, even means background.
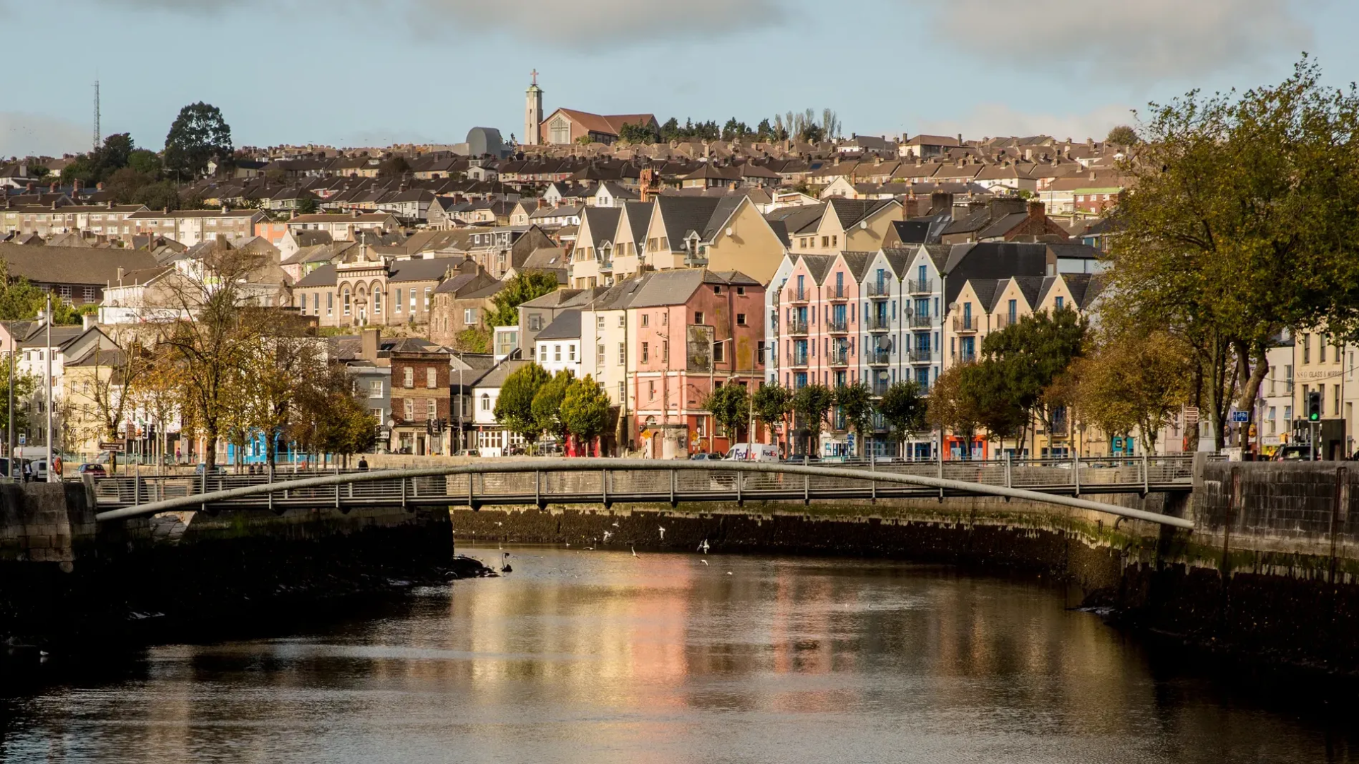
[{"label": "metal railing running along the footbridge over the river", "polygon": [[[383,470],[288,470],[253,474],[183,474],[183,476],[110,476],[94,480],[95,498],[99,504],[133,506],[212,493],[232,488],[243,488],[273,483],[279,487],[269,495],[241,499],[238,503],[268,504],[276,499],[310,502],[352,502],[352,500],[393,500],[428,499],[446,496],[466,499],[474,495],[481,503],[492,503],[496,496],[549,498],[554,503],[579,498],[594,502],[609,495],[696,495],[696,493],[776,493],[815,492],[834,495],[841,491],[862,491],[866,480],[829,476],[798,476],[788,473],[723,472],[718,465],[709,465],[708,472],[633,470],[610,468],[613,459],[572,459],[575,465],[568,472],[531,470],[488,472],[476,474],[439,474],[420,477],[376,479]],[[489,462],[488,462],[489,464]],[[815,465],[817,462],[811,462]],[[1150,491],[1192,481],[1192,457],[1110,457],[1098,459],[974,459],[974,461],[882,461],[882,462],[834,462],[825,466],[847,466],[863,472],[915,474],[921,477],[942,477],[962,483],[985,484],[1007,488],[1026,488],[1046,492],[1079,493],[1084,489],[1110,491],[1127,488],[1129,492]],[[288,484],[319,476],[347,473],[374,473],[364,483],[344,485],[299,487]],[[900,485],[897,485],[900,488]]]}]

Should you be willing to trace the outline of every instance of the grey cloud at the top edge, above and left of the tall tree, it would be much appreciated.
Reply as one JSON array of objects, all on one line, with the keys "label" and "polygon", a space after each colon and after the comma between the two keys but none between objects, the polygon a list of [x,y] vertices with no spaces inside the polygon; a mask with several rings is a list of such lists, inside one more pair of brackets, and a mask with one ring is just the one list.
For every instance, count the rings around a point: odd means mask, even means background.
[{"label": "grey cloud at the top edge, above and left of the tall tree", "polygon": [[[943,34],[968,54],[1087,80],[1177,82],[1296,57],[1318,0],[953,0]],[[1022,76],[1022,73],[1019,75]]]}]

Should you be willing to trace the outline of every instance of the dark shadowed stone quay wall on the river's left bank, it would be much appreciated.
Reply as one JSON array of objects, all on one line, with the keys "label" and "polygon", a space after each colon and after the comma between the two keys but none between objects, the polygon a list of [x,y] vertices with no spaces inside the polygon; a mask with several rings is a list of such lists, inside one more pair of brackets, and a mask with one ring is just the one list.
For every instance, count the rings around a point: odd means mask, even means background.
[{"label": "dark shadowed stone quay wall on the river's left bank", "polygon": [[448,513],[175,513],[96,523],[82,484],[0,484],[0,646],[91,651],[477,575]]}]

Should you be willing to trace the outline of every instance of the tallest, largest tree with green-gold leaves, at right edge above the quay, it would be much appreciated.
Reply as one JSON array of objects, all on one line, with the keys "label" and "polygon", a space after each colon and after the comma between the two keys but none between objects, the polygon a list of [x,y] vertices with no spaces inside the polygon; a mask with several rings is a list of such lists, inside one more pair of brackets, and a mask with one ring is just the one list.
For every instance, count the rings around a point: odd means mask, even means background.
[{"label": "tallest, largest tree with green-gold leaves, at right edge above the quay", "polygon": [[1359,91],[1320,79],[1305,57],[1276,87],[1152,103],[1124,170],[1102,314],[1195,349],[1218,447],[1282,329],[1359,329]]}]

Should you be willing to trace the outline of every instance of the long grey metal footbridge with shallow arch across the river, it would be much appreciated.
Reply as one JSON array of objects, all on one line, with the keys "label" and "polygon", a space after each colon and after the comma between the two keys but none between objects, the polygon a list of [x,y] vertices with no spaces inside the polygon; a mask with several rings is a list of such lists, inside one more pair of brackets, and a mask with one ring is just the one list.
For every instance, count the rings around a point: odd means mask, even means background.
[{"label": "long grey metal footbridge with shallow arch across the river", "polygon": [[99,521],[174,510],[402,506],[829,502],[1002,496],[1192,529],[1188,519],[1083,496],[1189,491],[1192,457],[799,464],[530,459],[419,469],[273,474],[117,476],[94,480]]}]

